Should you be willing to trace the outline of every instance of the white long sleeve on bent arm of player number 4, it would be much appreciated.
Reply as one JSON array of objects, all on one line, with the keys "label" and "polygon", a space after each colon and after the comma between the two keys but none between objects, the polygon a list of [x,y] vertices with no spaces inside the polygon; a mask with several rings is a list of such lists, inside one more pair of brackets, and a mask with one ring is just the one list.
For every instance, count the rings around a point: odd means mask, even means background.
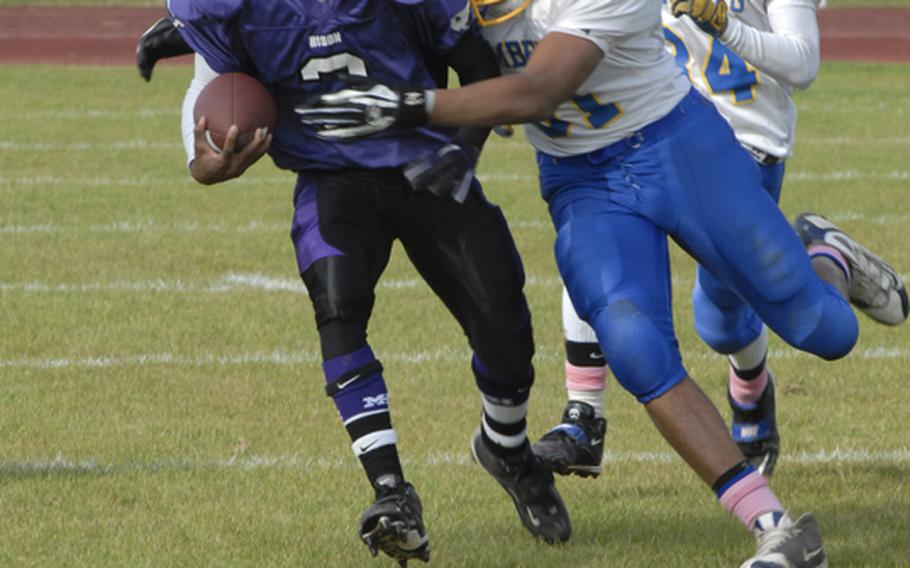
[{"label": "white long sleeve on bent arm of player number 4", "polygon": [[721,37],[727,47],[758,70],[798,89],[818,74],[818,21],[813,0],[770,0],[770,31],[731,18]]}]

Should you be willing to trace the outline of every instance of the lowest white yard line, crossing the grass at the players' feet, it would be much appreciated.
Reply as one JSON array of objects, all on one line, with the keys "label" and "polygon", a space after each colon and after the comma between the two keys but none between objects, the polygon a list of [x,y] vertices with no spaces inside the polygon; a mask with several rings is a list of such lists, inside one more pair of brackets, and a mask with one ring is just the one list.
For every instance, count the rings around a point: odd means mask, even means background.
[{"label": "lowest white yard line, crossing the grass at the players' feet", "polygon": [[[604,452],[604,464],[671,464],[679,461],[670,452]],[[440,452],[420,457],[402,456],[404,465],[426,467],[477,467],[470,455],[465,453]],[[863,448],[834,448],[803,451],[794,454],[783,453],[780,462],[796,465],[860,464],[887,465],[910,462],[910,448],[893,450],[868,450]],[[152,473],[160,471],[190,470],[261,470],[294,469],[304,472],[334,469],[357,470],[358,462],[353,458],[326,458],[302,455],[268,456],[243,455],[226,459],[198,460],[189,457],[173,457],[160,460],[129,460],[104,462],[91,458],[69,459],[57,454],[51,459],[25,461],[0,461],[0,475],[111,475],[118,473]]]}]

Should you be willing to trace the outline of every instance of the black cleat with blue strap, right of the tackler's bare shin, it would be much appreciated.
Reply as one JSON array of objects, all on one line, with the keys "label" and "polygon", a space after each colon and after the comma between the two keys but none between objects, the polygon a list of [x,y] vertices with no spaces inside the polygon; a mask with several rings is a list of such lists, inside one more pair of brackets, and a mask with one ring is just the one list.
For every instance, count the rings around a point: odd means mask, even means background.
[{"label": "black cleat with blue strap, right of the tackler's bare shin", "polygon": [[727,391],[727,402],[733,410],[730,425],[733,441],[743,455],[764,476],[770,476],[780,454],[780,434],[777,431],[777,409],[774,402],[774,377],[768,374],[768,386],[751,407],[743,407]]}]

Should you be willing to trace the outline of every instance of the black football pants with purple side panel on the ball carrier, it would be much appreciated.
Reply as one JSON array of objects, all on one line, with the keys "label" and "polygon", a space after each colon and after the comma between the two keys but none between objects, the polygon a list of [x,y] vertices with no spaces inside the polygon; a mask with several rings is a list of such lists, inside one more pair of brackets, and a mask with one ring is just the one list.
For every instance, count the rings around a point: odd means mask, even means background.
[{"label": "black football pants with purple side panel on the ball carrier", "polygon": [[315,207],[319,233],[302,235],[295,223],[298,259],[306,239],[332,251],[301,262],[324,360],[366,345],[374,288],[397,238],[484,365],[526,376],[534,342],[524,270],[502,212],[476,180],[459,204],[412,191],[397,169],[306,172],[294,200],[298,211]]}]

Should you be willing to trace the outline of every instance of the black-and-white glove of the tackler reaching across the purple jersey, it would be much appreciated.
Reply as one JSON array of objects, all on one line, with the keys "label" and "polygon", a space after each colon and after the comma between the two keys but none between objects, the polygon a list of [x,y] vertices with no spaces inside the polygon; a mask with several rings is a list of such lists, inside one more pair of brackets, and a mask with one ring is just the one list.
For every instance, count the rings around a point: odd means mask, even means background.
[{"label": "black-and-white glove of the tackler reaching across the purple jersey", "polygon": [[423,87],[391,87],[362,77],[345,89],[319,95],[294,107],[300,121],[318,129],[326,140],[363,138],[392,127],[427,123],[427,94]]}]

